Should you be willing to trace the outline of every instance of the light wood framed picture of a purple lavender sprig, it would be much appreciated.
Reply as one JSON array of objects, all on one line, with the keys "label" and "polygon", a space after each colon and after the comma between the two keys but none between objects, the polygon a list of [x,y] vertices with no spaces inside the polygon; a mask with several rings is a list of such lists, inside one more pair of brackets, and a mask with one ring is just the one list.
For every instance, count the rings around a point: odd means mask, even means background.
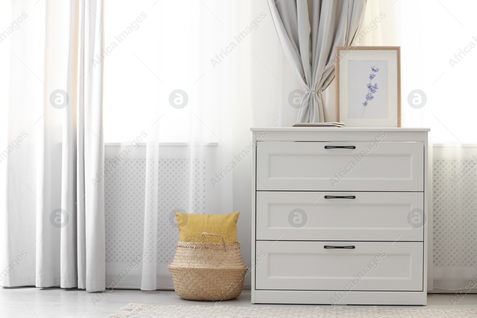
[{"label": "light wood framed picture of a purple lavender sprig", "polygon": [[401,127],[401,48],[336,47],[336,121]]}]

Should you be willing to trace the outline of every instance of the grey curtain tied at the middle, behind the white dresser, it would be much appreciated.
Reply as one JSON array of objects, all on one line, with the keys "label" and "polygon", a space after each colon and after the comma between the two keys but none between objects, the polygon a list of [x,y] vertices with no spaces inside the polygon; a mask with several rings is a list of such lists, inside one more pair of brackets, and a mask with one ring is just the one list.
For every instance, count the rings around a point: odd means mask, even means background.
[{"label": "grey curtain tied at the middle, behind the white dresser", "polygon": [[322,92],[334,77],[335,46],[351,45],[366,0],[268,0],[285,56],[305,93],[299,123],[322,123]]}]

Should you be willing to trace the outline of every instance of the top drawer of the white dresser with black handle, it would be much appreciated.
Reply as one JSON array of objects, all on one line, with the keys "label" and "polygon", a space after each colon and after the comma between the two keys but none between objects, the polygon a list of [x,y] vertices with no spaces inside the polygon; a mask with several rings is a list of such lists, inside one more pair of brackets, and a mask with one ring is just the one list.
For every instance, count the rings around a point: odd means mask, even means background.
[{"label": "top drawer of the white dresser with black handle", "polygon": [[424,191],[424,143],[258,142],[257,190]]}]

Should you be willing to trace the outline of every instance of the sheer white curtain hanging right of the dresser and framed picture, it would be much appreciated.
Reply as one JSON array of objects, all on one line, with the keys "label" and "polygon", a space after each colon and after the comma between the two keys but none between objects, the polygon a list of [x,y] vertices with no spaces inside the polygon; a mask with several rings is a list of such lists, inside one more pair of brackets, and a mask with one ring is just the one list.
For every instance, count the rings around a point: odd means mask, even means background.
[{"label": "sheer white curtain hanging right of the dresser and framed picture", "polygon": [[[355,43],[401,46],[402,125],[431,127],[431,292],[475,291],[469,286],[477,282],[477,132],[468,123],[477,115],[471,72],[477,67],[476,9],[452,1],[368,1],[361,30],[366,35]],[[424,103],[409,103],[409,96]]]}]

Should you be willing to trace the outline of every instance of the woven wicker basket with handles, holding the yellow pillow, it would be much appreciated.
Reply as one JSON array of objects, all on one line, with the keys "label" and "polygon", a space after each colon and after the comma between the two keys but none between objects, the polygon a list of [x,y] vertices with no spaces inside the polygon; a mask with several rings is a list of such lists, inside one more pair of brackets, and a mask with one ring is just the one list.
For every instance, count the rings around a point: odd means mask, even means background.
[{"label": "woven wicker basket with handles, holding the yellow pillow", "polygon": [[[205,235],[222,237],[222,244],[204,242]],[[226,300],[239,297],[247,267],[240,242],[225,244],[221,235],[202,233],[202,243],[178,242],[167,266],[177,295],[190,300]]]}]

